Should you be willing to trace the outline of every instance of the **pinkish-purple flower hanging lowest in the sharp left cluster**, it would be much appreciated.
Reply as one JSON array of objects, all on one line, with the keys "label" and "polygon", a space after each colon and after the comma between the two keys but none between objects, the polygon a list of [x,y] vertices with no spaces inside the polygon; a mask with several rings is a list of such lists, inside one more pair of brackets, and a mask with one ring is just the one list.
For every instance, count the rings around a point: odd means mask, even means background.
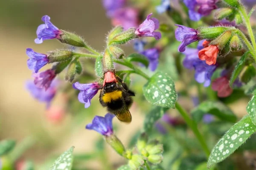
[{"label": "pinkish-purple flower hanging lowest in the sharp left cluster", "polygon": [[56,77],[56,74],[54,70],[49,69],[44,72],[34,73],[33,77],[35,78],[34,83],[36,87],[45,88],[45,90],[47,90],[50,87],[52,80]]}]

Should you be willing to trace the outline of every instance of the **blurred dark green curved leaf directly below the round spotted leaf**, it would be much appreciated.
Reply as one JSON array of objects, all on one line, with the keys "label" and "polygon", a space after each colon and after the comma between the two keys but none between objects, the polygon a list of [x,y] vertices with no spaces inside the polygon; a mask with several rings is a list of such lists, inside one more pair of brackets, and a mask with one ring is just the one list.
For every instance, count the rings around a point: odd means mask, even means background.
[{"label": "blurred dark green curved leaf directly below the round spotted leaf", "polygon": [[168,108],[155,107],[153,108],[145,117],[144,120],[144,130],[145,132],[151,132],[154,127],[154,123],[160,119],[163,114],[168,110]]}]

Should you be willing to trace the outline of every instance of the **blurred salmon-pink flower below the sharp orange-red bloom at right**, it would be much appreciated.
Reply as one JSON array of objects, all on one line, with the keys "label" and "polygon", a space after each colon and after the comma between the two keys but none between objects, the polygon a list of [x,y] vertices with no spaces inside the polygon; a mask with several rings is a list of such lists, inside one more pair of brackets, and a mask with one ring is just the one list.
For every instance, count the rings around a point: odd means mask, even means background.
[{"label": "blurred salmon-pink flower below the sharp orange-red bloom at right", "polygon": [[226,76],[213,80],[212,90],[217,91],[219,97],[230,96],[230,94],[233,92],[233,89],[230,88],[229,80]]}]

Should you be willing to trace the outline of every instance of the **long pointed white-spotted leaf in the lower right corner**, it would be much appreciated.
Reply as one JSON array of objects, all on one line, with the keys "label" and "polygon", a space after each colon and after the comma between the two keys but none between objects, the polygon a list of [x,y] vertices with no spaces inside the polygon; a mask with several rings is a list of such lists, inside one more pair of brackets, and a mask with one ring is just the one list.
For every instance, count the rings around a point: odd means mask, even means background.
[{"label": "long pointed white-spotted leaf in the lower right corner", "polygon": [[239,122],[233,125],[230,130],[218,141],[209,156],[207,167],[223,161],[230,156],[241,144],[243,144],[256,131],[256,125],[250,116],[244,116]]}]

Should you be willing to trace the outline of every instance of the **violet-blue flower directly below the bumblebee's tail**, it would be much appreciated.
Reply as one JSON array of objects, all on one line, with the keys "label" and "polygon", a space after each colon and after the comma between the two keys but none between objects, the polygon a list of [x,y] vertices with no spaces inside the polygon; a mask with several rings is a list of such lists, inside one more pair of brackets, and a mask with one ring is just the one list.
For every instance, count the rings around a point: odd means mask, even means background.
[{"label": "violet-blue flower directly below the bumblebee's tail", "polygon": [[113,134],[112,119],[114,114],[107,113],[105,117],[95,116],[93,122],[86,125],[86,129],[95,130],[104,136],[111,136]]}]

